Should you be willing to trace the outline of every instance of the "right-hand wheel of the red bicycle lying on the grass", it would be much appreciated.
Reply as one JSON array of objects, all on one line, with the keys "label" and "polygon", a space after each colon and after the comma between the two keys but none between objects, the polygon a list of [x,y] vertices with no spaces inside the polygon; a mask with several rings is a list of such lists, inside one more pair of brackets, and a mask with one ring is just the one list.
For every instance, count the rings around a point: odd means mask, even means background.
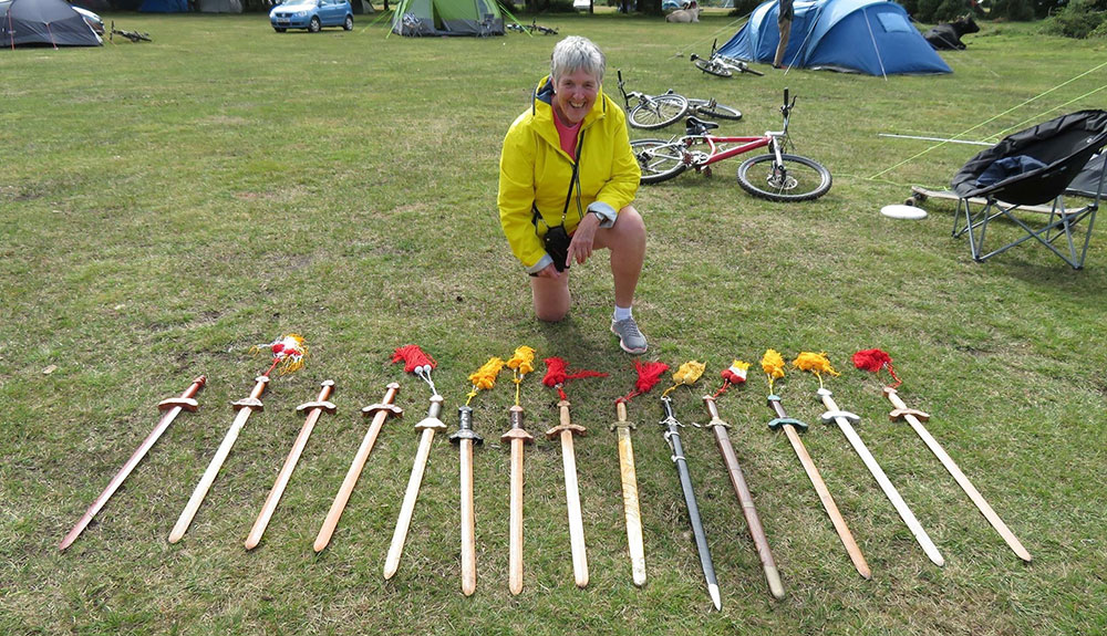
[{"label": "right-hand wheel of the red bicycle lying on the grass", "polygon": [[770,201],[810,201],[830,190],[830,171],[821,164],[798,155],[775,155],[746,159],[738,166],[738,185],[755,197]]}]

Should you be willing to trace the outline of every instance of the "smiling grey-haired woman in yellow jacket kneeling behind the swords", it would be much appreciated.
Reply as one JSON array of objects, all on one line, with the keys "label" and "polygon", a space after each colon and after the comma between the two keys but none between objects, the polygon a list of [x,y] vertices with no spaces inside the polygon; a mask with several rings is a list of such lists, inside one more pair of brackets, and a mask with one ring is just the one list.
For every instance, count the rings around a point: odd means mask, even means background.
[{"label": "smiling grey-haired woman in yellow jacket kneeling behind the swords", "polygon": [[631,205],[641,171],[627,116],[600,90],[603,53],[584,38],[554,48],[550,75],[511,124],[499,160],[499,219],[530,274],[535,313],[556,322],[569,311],[569,267],[610,252],[611,331],[619,346],[644,353],[631,309],[645,258],[645,226]]}]

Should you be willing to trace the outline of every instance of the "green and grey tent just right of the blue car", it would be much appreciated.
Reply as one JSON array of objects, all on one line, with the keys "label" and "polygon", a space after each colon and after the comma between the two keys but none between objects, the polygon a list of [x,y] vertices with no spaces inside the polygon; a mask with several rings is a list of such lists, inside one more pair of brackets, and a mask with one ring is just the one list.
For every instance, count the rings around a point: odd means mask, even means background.
[{"label": "green and grey tent just right of the blue car", "polygon": [[392,15],[401,35],[503,35],[496,0],[401,0]]}]

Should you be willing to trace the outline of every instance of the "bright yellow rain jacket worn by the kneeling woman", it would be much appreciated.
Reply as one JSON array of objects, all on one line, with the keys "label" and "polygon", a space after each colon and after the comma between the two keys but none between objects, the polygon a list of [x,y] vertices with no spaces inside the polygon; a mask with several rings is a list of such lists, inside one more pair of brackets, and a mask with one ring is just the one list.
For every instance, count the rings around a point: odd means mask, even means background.
[{"label": "bright yellow rain jacket worn by the kneeling woman", "polygon": [[[499,222],[515,257],[530,273],[554,262],[541,237],[561,223],[572,179],[573,157],[561,149],[554,127],[552,88],[549,76],[538,83],[530,108],[508,129],[499,158]],[[634,200],[642,175],[630,149],[627,116],[602,90],[579,135],[579,187],[572,189],[565,217],[569,233],[586,212],[596,212],[600,227],[614,225],[619,210]],[[537,223],[536,208],[541,213]]]}]

